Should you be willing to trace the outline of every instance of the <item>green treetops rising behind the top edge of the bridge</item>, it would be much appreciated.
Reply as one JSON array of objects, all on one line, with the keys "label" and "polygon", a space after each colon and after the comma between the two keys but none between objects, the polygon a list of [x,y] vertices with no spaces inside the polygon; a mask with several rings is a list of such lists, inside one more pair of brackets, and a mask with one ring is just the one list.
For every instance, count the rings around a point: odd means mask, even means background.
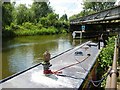
[{"label": "green treetops rising behind the top edge of the bridge", "polygon": [[83,11],[80,13],[73,15],[70,19],[75,19],[83,16],[87,16],[89,14],[93,14],[111,7],[114,7],[115,2],[83,2]]}]

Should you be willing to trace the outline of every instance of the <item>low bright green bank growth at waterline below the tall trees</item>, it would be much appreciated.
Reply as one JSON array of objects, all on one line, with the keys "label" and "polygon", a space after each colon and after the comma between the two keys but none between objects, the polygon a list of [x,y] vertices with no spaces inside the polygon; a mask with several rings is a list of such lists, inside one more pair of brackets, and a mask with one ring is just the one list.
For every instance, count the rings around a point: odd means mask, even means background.
[{"label": "low bright green bank growth at waterline below the tall trees", "polygon": [[3,37],[14,37],[14,36],[33,36],[33,35],[50,35],[50,34],[63,34],[67,33],[65,28],[56,27],[43,27],[41,24],[32,24],[29,22],[23,23],[22,25],[11,24],[6,26],[3,30]]}]

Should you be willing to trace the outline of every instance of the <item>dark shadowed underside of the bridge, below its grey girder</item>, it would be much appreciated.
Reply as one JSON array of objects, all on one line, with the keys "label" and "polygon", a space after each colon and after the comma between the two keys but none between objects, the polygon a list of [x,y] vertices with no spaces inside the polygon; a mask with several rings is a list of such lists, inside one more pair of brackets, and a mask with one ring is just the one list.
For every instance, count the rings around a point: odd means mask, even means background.
[{"label": "dark shadowed underside of the bridge, below its grey girder", "polygon": [[[70,24],[70,31],[82,31],[82,24]],[[85,30],[90,31],[106,31],[107,29],[112,29],[114,31],[116,28],[120,28],[120,22],[104,22],[104,23],[90,23],[85,25]]]}]

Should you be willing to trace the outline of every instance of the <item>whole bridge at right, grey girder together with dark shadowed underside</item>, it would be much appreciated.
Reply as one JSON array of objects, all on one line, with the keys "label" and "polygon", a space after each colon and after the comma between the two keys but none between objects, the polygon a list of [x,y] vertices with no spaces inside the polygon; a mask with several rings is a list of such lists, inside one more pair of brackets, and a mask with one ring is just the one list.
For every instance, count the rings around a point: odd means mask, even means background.
[{"label": "whole bridge at right, grey girder together with dark shadowed underside", "polygon": [[88,30],[96,31],[96,26],[102,27],[102,31],[107,28],[120,27],[120,5],[103,10],[94,14],[70,20],[70,30],[79,31],[81,26],[85,25]]}]

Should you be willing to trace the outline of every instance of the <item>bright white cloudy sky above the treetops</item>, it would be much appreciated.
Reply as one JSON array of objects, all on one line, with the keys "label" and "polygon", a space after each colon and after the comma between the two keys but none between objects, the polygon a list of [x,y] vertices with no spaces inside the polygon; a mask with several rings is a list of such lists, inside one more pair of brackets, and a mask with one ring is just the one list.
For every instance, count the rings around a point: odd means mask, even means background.
[{"label": "bright white cloudy sky above the treetops", "polygon": [[[38,0],[44,1],[44,0]],[[55,13],[61,17],[63,14],[67,14],[68,17],[80,13],[82,11],[83,0],[49,0],[50,6],[53,8]],[[117,0],[116,4],[118,3]],[[16,3],[32,4],[33,0],[16,0]]]}]

